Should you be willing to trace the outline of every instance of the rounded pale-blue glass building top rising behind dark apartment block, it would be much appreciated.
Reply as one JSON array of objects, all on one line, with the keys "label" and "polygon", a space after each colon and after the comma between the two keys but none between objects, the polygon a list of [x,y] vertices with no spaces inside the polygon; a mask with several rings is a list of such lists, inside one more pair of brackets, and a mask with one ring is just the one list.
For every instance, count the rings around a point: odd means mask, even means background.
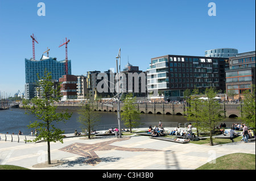
[{"label": "rounded pale-blue glass building top rising behind dark apartment block", "polygon": [[238,50],[235,48],[217,48],[205,51],[205,57],[221,57],[228,58],[234,57],[238,53]]}]

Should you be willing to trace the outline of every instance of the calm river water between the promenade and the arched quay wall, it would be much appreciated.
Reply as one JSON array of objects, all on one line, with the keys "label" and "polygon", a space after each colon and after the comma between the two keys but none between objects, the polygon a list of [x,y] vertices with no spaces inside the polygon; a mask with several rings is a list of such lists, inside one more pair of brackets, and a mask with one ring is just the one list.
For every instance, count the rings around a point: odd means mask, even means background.
[{"label": "calm river water between the promenade and the arched quay wall", "polygon": [[[20,131],[23,134],[29,135],[32,129],[28,129],[27,125],[30,122],[34,122],[36,119],[33,115],[25,114],[25,110],[19,108],[13,108],[10,110],[1,110],[0,111],[0,133],[15,133],[17,134]],[[73,133],[75,129],[81,132],[81,124],[77,122],[79,114],[77,111],[72,111],[72,117],[66,123],[55,124],[57,128],[63,129],[65,133]],[[112,127],[118,127],[117,113],[114,112],[98,112],[101,116],[101,121],[98,123],[96,128],[99,130],[106,130]],[[142,114],[141,127],[147,128],[148,125],[158,125],[159,121],[162,120],[164,127],[176,127],[179,123],[184,125],[187,122],[187,119],[184,116],[177,115],[154,115],[154,114]],[[225,123],[237,123],[236,119],[228,118],[225,120]],[[227,124],[228,125],[228,124]],[[125,128],[121,121],[121,128]]]}]

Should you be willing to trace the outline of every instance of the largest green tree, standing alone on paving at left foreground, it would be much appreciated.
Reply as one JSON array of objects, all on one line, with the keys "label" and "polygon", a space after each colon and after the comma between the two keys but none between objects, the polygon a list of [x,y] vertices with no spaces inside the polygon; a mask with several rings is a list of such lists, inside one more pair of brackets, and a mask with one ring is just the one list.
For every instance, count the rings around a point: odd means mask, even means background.
[{"label": "largest green tree, standing alone on paving at left foreground", "polygon": [[[56,112],[56,106],[54,102],[59,102],[60,86],[54,87],[52,76],[47,71],[44,72],[44,77],[39,77],[39,81],[36,83],[37,91],[42,98],[35,97],[31,100],[34,106],[25,106],[26,113],[34,115],[36,121],[28,125],[28,128],[35,128],[39,133],[32,142],[39,140],[47,141],[48,150],[48,164],[51,164],[51,149],[50,142],[60,141],[63,143],[64,131],[56,128],[53,123],[65,122],[70,119],[72,113],[67,111]],[[27,112],[28,111],[28,112]]]}]

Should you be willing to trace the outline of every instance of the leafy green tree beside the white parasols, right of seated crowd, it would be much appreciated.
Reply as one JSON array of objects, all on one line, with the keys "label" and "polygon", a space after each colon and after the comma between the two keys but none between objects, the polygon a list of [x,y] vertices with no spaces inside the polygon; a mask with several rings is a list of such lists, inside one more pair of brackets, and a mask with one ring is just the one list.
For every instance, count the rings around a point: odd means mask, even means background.
[{"label": "leafy green tree beside the white parasols, right of seated crowd", "polygon": [[214,99],[217,95],[217,91],[214,87],[207,88],[205,90],[207,100],[201,100],[198,102],[197,111],[199,116],[200,127],[204,131],[210,133],[210,146],[213,146],[213,133],[215,128],[224,117],[222,116],[223,109],[217,99]]}]

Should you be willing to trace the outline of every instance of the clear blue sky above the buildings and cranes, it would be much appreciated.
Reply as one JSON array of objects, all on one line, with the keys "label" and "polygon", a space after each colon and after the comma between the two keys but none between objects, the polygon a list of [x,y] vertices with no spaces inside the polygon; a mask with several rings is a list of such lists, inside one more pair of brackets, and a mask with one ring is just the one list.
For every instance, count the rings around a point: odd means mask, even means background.
[{"label": "clear blue sky above the buildings and cranes", "polygon": [[[46,16],[38,16],[39,2]],[[216,16],[209,16],[209,2]],[[255,50],[255,1],[246,0],[0,0],[0,91],[24,91],[24,59],[36,60],[49,47],[50,57],[65,59],[60,42],[67,37],[72,74],[115,68],[146,70],[152,57],[166,54],[204,56],[214,48]]]}]

